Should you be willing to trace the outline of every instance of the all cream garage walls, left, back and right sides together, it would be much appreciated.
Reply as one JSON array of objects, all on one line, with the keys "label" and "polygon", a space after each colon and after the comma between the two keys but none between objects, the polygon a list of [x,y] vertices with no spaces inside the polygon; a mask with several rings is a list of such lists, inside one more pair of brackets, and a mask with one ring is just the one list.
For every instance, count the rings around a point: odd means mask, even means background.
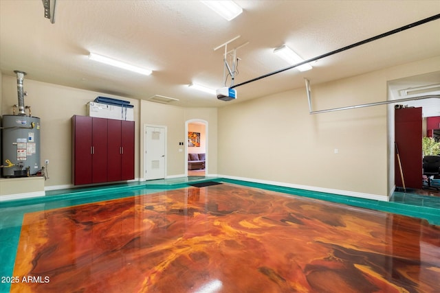
[{"label": "all cream garage walls, left, back and right sides together", "polygon": [[[314,110],[387,99],[386,82],[440,70],[440,56],[314,84]],[[49,159],[46,187],[71,185],[72,115],[85,115],[85,104],[103,93],[83,91],[25,78],[25,104],[41,117],[41,159]],[[2,75],[1,113],[17,104],[17,79]],[[119,99],[125,97],[111,96]],[[135,176],[142,178],[143,126],[166,126],[167,176],[183,176],[186,121],[208,123],[209,173],[341,191],[347,195],[386,197],[393,189],[393,135],[387,106],[309,115],[305,89],[276,93],[223,108],[179,108],[128,99],[135,105]],[[338,149],[338,154],[334,150]]]}]

